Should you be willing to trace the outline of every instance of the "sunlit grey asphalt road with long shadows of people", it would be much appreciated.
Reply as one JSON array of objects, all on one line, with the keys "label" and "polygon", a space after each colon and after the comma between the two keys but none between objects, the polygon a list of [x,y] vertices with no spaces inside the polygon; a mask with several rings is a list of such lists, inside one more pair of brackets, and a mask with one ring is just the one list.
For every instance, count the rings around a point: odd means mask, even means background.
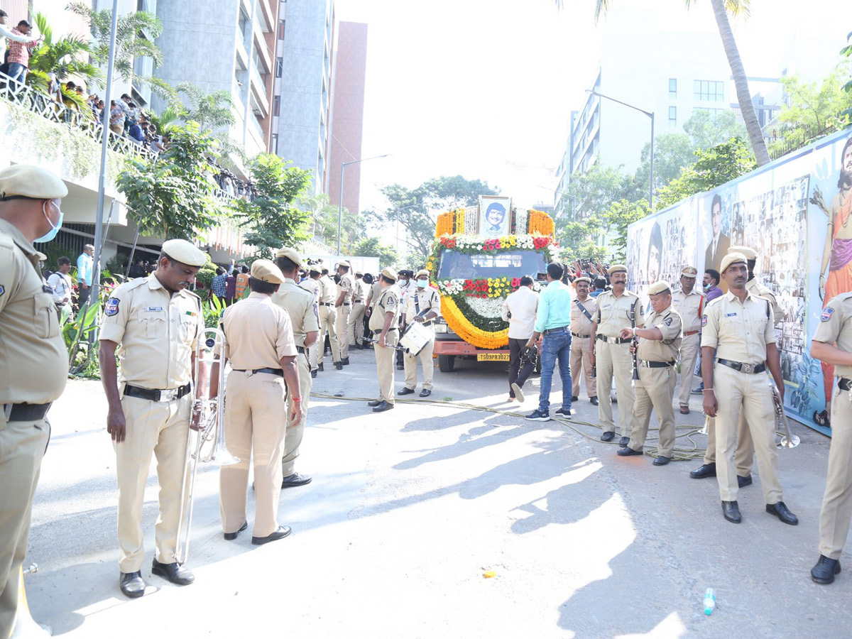
[{"label": "sunlit grey asphalt road with long shadows of people", "polygon": [[[649,456],[617,457],[582,423],[597,415],[584,393],[577,423],[527,422],[504,402],[504,365],[461,362],[435,371],[429,399],[489,410],[413,400],[373,414],[350,400],[376,392],[372,353],[351,360],[314,380],[327,396],[311,401],[296,464],[314,481],[283,492],[279,508],[291,537],[261,547],[250,534],[224,541],[217,471],[205,466],[188,562],[196,582],[153,577],[152,474],[149,589],[132,601],[118,590],[106,402],[100,383],[69,383],[50,413],[33,507],[25,563],[39,565],[26,578],[33,616],[55,636],[87,638],[849,635],[852,578],[845,570],[831,586],[809,578],[826,437],[792,423],[802,444],[780,450],[799,526],[763,511],[757,472],[740,492],[744,521],[735,526],[722,519],[716,481],[688,477],[700,461],[657,468]],[[558,399],[558,376],[555,385]],[[535,407],[538,378],[527,388],[524,412]],[[705,444],[690,435],[702,422],[699,402],[694,395],[692,414],[678,415],[691,426],[679,429],[687,452]],[[707,587],[717,592],[710,617]]]}]

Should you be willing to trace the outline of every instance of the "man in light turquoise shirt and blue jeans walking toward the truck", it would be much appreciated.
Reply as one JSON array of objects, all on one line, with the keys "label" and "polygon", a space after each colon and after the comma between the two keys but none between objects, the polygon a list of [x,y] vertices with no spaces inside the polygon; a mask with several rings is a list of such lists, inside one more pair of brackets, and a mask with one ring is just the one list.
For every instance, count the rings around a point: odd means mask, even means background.
[{"label": "man in light turquoise shirt and blue jeans walking toward the truck", "polygon": [[527,347],[544,336],[541,344],[541,392],[538,394],[538,409],[527,415],[535,422],[550,421],[550,383],[553,369],[559,360],[559,376],[562,379],[562,407],[556,415],[571,414],[571,290],[562,284],[564,269],[560,264],[547,265],[547,286],[538,296],[538,313],[535,332]]}]

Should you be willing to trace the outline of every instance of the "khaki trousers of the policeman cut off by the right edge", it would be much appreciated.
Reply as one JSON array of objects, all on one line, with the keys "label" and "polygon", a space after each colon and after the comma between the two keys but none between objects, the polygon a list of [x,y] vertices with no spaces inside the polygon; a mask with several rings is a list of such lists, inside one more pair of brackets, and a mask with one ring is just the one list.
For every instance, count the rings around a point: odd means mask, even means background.
[{"label": "khaki trousers of the policeman cut off by the right edge", "polygon": [[852,517],[852,400],[835,388],[832,400],[832,446],[828,451],[826,494],[820,510],[820,555],[840,559]]}]

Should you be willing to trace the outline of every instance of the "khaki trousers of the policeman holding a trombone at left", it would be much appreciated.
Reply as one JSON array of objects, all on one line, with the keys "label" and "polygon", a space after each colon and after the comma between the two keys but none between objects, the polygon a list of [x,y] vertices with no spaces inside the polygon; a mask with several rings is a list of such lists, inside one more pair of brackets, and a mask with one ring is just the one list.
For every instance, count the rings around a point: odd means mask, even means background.
[{"label": "khaki trousers of the policeman holding a trombone at left", "polygon": [[[123,388],[119,390],[124,393]],[[145,556],[142,504],[152,453],[157,458],[160,487],[155,556],[161,563],[175,563],[178,527],[185,505],[181,504],[181,492],[186,475],[192,406],[192,393],[173,401],[122,395],[121,408],[127,431],[123,442],[112,443],[118,475],[118,569],[122,573],[135,573]]]}]

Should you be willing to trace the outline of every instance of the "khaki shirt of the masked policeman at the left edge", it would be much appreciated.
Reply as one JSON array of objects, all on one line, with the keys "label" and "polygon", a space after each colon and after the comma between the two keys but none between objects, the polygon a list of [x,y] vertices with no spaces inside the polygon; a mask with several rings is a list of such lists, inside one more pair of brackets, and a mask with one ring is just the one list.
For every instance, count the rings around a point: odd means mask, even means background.
[{"label": "khaki shirt of the masked policeman at the left edge", "polygon": [[65,340],[36,250],[0,220],[0,404],[58,400],[67,379]]}]

